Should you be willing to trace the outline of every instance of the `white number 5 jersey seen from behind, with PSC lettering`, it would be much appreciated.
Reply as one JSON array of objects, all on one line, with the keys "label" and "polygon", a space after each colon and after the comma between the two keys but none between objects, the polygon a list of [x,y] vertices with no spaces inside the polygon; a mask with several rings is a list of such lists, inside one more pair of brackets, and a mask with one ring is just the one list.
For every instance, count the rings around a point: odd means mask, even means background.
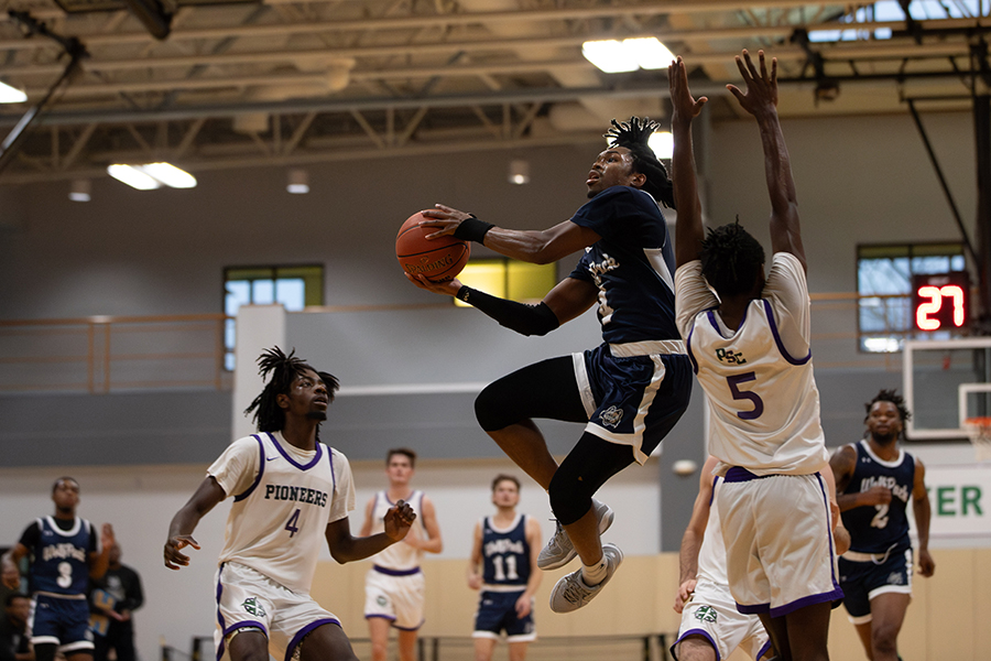
[{"label": "white number 5 jersey seen from behind, with PSC lettering", "polygon": [[[802,263],[774,256],[764,297],[736,330],[712,305],[699,262],[678,269],[678,327],[709,403],[709,454],[756,475],[805,475],[829,459],[809,349]],[[716,301],[718,304],[718,301]],[[708,308],[707,308],[708,307]],[[787,347],[783,337],[787,338]]]}]

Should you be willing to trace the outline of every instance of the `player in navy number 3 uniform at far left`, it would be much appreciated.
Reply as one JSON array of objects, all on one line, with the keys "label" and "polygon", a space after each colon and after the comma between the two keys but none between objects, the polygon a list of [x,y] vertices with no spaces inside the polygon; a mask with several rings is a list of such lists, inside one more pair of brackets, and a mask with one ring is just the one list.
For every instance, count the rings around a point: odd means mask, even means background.
[{"label": "player in navy number 3 uniform at far left", "polygon": [[107,572],[113,528],[104,523],[97,535],[89,521],[76,516],[79,483],[72,477],[55,480],[52,500],[55,514],[36,519],[3,555],[3,585],[18,589],[18,563],[28,556],[35,659],[53,661],[59,651],[69,661],[91,661],[94,642],[86,595],[89,579],[101,578]]}]

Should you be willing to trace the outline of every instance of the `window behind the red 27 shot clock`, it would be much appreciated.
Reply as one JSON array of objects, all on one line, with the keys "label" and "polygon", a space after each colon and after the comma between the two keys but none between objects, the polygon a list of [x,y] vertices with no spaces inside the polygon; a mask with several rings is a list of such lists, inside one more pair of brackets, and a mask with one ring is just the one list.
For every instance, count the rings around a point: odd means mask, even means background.
[{"label": "window behind the red 27 shot clock", "polygon": [[857,247],[857,325],[860,350],[901,351],[908,339],[949,339],[950,332],[916,333],[912,277],[965,271],[961,243]]}]

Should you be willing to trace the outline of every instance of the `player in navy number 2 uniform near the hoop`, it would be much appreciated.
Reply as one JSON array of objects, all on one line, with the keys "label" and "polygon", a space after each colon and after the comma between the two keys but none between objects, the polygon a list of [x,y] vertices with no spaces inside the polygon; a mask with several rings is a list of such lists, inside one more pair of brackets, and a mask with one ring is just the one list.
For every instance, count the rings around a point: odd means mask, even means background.
[{"label": "player in navy number 2 uniform near the hoop", "polygon": [[897,638],[912,598],[908,501],[918,534],[918,573],[932,576],[929,497],[922,462],[899,447],[912,415],[894,390],[864,404],[867,437],[843,445],[829,460],[836,474],[850,550],[839,559],[843,605],[872,661],[899,659]]}]

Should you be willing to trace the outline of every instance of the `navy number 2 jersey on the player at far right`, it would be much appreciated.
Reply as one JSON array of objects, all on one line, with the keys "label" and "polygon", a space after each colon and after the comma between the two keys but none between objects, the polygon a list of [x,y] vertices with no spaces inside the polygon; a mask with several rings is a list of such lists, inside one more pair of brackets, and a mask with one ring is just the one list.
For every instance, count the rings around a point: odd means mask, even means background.
[{"label": "navy number 2 jersey on the player at far right", "polygon": [[842,513],[843,525],[850,531],[850,550],[861,553],[897,553],[912,545],[908,539],[906,508],[915,481],[915,458],[899,451],[899,457],[885,462],[875,455],[867,441],[856,444],[857,466],[843,494],[860,494],[871,487],[891,489],[891,502],[854,507]]}]

